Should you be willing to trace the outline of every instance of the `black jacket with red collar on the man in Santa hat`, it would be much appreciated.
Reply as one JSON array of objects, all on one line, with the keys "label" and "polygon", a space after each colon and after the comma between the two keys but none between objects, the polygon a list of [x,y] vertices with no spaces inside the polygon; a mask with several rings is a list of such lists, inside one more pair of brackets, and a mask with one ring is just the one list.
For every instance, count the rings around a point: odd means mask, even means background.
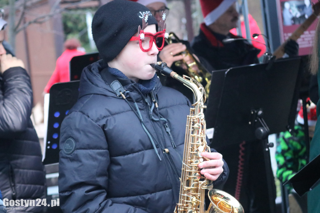
[{"label": "black jacket with red collar on the man in Santa hat", "polygon": [[200,33],[193,39],[191,46],[196,55],[206,59],[216,70],[259,63],[257,55],[260,50],[253,47],[249,42],[246,40],[235,40],[230,43],[223,43],[223,38],[242,37],[230,33],[225,37],[220,35],[218,39],[202,23]]}]

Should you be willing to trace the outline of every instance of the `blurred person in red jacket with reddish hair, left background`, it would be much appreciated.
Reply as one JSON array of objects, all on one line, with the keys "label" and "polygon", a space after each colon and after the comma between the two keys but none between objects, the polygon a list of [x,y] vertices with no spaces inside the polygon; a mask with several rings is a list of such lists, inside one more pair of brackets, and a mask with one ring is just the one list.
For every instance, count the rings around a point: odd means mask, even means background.
[{"label": "blurred person in red jacket with reddish hair, left background", "polygon": [[56,68],[44,88],[45,93],[49,93],[51,86],[55,83],[70,81],[70,60],[75,56],[85,54],[84,51],[77,50],[78,47],[80,47],[80,42],[76,38],[71,38],[65,41],[64,48],[66,50],[57,59]]}]

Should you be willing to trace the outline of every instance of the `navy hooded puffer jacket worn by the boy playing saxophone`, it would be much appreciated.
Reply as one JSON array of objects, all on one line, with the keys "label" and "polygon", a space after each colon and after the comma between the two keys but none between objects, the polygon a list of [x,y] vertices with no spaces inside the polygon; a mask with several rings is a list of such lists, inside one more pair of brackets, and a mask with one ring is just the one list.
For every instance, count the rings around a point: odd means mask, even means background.
[{"label": "navy hooded puffer jacket worn by the boy playing saxophone", "polygon": [[[126,103],[103,81],[101,69],[101,61],[84,69],[79,99],[61,125],[60,207],[64,212],[171,213],[178,201],[188,99],[163,87],[155,76],[147,83],[155,83],[159,117],[156,109],[149,113],[148,104],[153,104],[150,93],[142,94],[145,88],[117,77],[128,91]],[[140,113],[156,150],[135,113]],[[216,184],[227,174],[226,166]]]}]

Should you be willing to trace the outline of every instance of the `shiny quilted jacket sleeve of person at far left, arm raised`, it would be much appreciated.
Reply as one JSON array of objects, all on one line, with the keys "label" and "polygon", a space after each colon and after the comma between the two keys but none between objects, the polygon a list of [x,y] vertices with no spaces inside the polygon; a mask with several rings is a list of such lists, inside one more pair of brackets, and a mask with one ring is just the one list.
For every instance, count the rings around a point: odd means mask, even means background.
[{"label": "shiny quilted jacket sleeve of person at far left, arm raised", "polygon": [[26,130],[32,110],[30,77],[22,67],[12,67],[1,76],[0,137]]}]

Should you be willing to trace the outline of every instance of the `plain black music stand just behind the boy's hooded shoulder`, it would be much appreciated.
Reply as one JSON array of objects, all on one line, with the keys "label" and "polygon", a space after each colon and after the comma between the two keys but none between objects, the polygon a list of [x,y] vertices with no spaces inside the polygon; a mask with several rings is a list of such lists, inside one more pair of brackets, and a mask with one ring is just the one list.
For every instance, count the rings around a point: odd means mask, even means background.
[{"label": "plain black music stand just behind the boy's hooded shoulder", "polygon": [[80,80],[84,67],[99,60],[99,52],[75,56],[70,60],[70,81]]}]

